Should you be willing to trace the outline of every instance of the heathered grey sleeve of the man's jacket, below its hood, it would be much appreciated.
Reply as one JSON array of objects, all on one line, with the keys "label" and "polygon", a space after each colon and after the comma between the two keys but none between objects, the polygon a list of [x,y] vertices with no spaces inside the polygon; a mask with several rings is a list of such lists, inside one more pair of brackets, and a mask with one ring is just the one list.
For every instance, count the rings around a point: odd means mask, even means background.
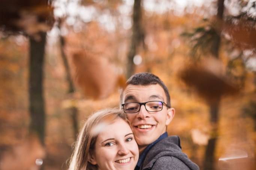
[{"label": "heathered grey sleeve of the man's jacket, below its hood", "polygon": [[160,157],[151,170],[190,170],[181,160],[171,156]]}]

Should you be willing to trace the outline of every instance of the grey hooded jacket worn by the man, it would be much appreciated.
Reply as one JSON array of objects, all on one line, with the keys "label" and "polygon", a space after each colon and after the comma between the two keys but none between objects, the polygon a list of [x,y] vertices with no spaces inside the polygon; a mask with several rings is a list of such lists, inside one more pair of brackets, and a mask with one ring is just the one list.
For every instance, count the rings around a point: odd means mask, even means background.
[{"label": "grey hooded jacket worn by the man", "polygon": [[181,151],[180,138],[169,136],[150,149],[141,170],[199,170],[199,167]]}]

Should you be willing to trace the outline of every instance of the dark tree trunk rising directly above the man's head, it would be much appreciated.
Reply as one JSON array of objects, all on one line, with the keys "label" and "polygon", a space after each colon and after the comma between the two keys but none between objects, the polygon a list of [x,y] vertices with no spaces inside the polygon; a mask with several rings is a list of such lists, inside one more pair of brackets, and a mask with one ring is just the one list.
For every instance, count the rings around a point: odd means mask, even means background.
[{"label": "dark tree trunk rising directly above the man's head", "polygon": [[133,57],[138,52],[138,47],[144,39],[144,31],[141,26],[142,22],[142,12],[141,12],[141,0],[135,0],[133,6],[133,25],[132,25],[132,38],[130,49],[128,52],[128,62],[127,62],[127,74],[126,77],[129,78],[135,70],[135,65],[133,63]]}]

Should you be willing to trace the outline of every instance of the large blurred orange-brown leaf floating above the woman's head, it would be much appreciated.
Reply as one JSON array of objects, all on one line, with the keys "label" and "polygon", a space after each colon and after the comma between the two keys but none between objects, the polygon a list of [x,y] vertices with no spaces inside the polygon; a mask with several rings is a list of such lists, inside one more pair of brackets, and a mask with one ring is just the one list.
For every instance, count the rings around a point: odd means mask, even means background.
[{"label": "large blurred orange-brown leaf floating above the woman's head", "polygon": [[117,84],[124,84],[123,78],[116,74],[113,65],[106,58],[77,52],[73,55],[73,63],[76,68],[75,81],[86,97],[106,98]]}]

